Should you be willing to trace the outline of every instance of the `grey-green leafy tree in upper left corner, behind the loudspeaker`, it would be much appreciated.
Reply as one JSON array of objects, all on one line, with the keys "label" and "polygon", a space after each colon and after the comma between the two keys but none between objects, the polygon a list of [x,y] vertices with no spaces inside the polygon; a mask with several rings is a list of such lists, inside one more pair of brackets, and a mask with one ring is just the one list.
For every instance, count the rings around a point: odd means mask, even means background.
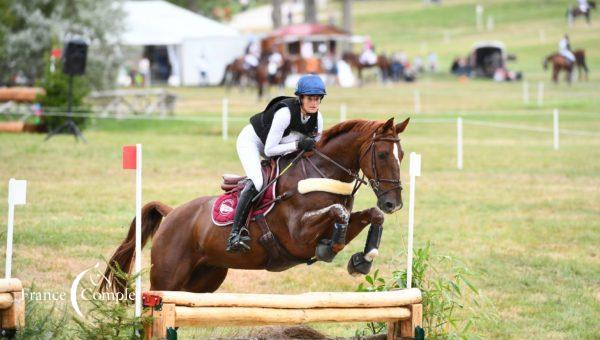
[{"label": "grey-green leafy tree in upper left corner, behind the loudspeaker", "polygon": [[0,1],[0,83],[12,84],[20,75],[33,85],[52,47],[78,37],[90,44],[85,80],[93,88],[112,86],[123,17],[121,3],[113,0]]}]

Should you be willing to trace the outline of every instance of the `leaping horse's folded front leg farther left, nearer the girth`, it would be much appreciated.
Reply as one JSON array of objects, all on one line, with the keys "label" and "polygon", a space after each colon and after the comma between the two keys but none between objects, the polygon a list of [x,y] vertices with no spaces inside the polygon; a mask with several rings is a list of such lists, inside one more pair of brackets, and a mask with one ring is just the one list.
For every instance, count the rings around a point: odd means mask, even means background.
[{"label": "leaping horse's folded front leg farther left, nearer the girth", "polygon": [[[312,244],[317,242],[315,257],[320,261],[331,262],[337,253],[346,246],[349,220],[350,212],[339,203],[319,210],[308,211],[300,220],[301,231],[295,235],[295,238]],[[328,229],[331,227],[333,230],[329,232]],[[331,238],[319,240],[319,237],[323,237],[323,230],[326,231],[326,235],[331,235]]]}]

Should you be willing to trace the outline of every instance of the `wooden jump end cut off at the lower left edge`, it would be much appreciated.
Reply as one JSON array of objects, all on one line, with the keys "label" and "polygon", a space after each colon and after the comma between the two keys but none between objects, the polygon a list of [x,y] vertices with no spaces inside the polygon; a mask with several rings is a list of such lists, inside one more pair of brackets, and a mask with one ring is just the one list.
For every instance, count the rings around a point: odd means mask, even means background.
[{"label": "wooden jump end cut off at the lower left edge", "polygon": [[0,335],[14,336],[25,325],[25,298],[18,279],[0,279]]}]

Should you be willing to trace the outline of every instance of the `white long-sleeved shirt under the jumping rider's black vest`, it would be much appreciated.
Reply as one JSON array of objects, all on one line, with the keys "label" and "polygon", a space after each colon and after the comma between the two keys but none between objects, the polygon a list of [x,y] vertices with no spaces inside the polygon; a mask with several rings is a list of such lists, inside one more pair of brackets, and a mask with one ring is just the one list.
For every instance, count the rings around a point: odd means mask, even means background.
[{"label": "white long-sleeved shirt under the jumping rider's black vest", "polygon": [[[302,119],[302,123],[306,124],[309,118],[310,117],[306,117],[305,119]],[[275,112],[275,115],[273,116],[273,122],[271,123],[271,129],[269,130],[269,134],[267,135],[267,140],[265,142],[265,156],[273,157],[285,155],[298,149],[298,141],[304,137],[301,133],[291,131],[289,135],[285,137],[283,136],[285,129],[290,126],[291,120],[292,114],[289,108],[282,107]],[[323,116],[319,111],[317,112],[317,141],[321,138],[322,132]]]}]

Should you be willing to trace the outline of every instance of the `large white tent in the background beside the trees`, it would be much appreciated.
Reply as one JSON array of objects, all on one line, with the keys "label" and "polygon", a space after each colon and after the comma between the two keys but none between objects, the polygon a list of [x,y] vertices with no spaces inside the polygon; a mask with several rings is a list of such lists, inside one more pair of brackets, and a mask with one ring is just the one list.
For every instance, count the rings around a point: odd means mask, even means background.
[{"label": "large white tent in the background beside the trees", "polygon": [[129,46],[165,46],[172,85],[198,85],[201,70],[208,84],[218,84],[225,67],[244,52],[247,39],[237,30],[162,0],[126,1],[125,32]]}]

